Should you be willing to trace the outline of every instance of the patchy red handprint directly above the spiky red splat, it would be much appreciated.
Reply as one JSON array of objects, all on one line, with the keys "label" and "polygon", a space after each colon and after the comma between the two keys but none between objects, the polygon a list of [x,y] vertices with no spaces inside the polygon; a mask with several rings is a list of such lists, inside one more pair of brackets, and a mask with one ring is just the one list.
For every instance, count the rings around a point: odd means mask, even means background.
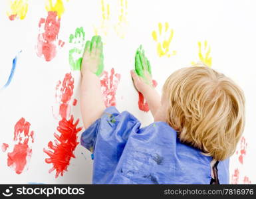
[{"label": "patchy red handprint directly above the spiky red splat", "polygon": [[67,73],[64,76],[63,82],[59,81],[56,86],[55,97],[59,103],[59,115],[61,115],[61,118],[67,118],[70,115],[70,100],[73,89],[74,78],[72,78],[71,73]]}]

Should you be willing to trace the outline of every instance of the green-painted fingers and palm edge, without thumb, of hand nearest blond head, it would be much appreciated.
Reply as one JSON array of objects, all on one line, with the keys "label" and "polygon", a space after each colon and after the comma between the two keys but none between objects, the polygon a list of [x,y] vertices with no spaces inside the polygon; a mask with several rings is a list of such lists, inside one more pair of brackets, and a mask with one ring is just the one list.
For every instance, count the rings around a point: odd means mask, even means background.
[{"label": "green-painted fingers and palm edge, without thumb, of hand nearest blond head", "polygon": [[152,84],[152,80],[148,80],[152,78],[150,61],[146,58],[142,45],[136,50],[135,71],[138,76],[145,80],[146,84]]}]

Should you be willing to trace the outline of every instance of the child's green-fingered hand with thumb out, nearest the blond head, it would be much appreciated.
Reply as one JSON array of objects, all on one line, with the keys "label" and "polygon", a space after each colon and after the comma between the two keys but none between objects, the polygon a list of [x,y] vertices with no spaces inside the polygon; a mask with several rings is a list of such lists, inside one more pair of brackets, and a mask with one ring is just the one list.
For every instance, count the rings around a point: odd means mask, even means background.
[{"label": "child's green-fingered hand with thumb out, nearest the blond head", "polygon": [[138,48],[135,55],[135,71],[131,71],[134,86],[142,94],[148,88],[153,88],[151,66],[148,58],[142,50],[142,46]]}]

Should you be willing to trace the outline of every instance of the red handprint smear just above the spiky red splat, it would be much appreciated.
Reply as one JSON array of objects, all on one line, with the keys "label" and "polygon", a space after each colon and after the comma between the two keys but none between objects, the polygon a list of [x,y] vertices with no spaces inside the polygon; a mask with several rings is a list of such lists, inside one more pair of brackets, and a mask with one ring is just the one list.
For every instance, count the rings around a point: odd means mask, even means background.
[{"label": "red handprint smear just above the spiky red splat", "polygon": [[[57,86],[58,89],[59,86]],[[70,113],[70,105],[69,102],[71,100],[72,94],[74,89],[74,78],[72,78],[71,73],[67,73],[64,76],[63,84],[61,87],[61,100],[60,100],[60,107],[59,107],[59,114],[61,118],[66,118],[67,115]]]}]

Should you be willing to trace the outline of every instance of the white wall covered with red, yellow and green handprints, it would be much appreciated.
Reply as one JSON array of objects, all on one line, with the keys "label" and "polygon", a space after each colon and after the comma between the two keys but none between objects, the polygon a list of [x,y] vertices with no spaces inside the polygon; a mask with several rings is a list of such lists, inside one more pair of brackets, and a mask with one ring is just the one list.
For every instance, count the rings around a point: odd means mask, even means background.
[{"label": "white wall covered with red, yellow and green handprints", "polygon": [[[55,178],[55,171],[48,173],[51,165],[45,163],[47,155],[43,153],[47,143],[54,140],[53,133],[57,132],[59,122],[52,113],[52,107],[58,108],[55,101],[55,86],[59,80],[63,80],[67,72],[71,72],[74,77],[72,98],[78,99],[79,103],[80,73],[72,71],[68,64],[68,50],[72,48],[72,44],[68,43],[69,35],[74,33],[76,27],[83,27],[88,40],[94,34],[94,27],[100,25],[101,19],[99,0],[63,2],[65,11],[61,17],[58,38],[64,40],[65,44],[51,62],[39,58],[35,50],[39,19],[47,17],[45,2],[30,0],[25,19],[15,21],[10,21],[7,17],[7,1],[0,2],[0,87],[7,81],[13,58],[22,50],[11,84],[0,91],[0,145],[10,145],[5,153],[0,151],[0,183],[91,182],[90,153],[80,145],[74,151],[76,159],[70,161],[68,171],[59,178]],[[124,39],[120,38],[114,29],[120,8],[118,1],[104,3],[110,5],[108,34],[102,35],[104,65],[108,72],[114,68],[121,74],[116,94],[118,109],[130,111],[143,125],[152,122],[150,113],[138,109],[138,94],[132,86],[129,72],[134,67],[134,54],[140,44],[144,46],[151,61],[153,77],[158,81],[157,89],[161,92],[164,81],[172,72],[199,60],[197,42],[207,40],[211,46],[211,67],[235,80],[245,92],[247,117],[244,137],[247,141],[247,152],[243,157],[243,164],[239,163],[241,149],[240,144],[237,146],[238,154],[233,155],[230,163],[231,181],[233,182],[232,175],[235,169],[238,169],[238,183],[243,183],[245,176],[255,183],[255,1],[128,0],[128,25],[124,25]],[[158,56],[156,42],[152,39],[152,31],[158,29],[158,23],[165,22],[174,29],[170,51],[176,50],[177,54],[170,58]],[[75,118],[81,118],[79,105],[72,106],[71,113]],[[31,123],[31,129],[35,131],[35,143],[32,144],[33,154],[28,169],[16,174],[7,166],[7,153],[13,150],[14,126],[21,117]]]}]

